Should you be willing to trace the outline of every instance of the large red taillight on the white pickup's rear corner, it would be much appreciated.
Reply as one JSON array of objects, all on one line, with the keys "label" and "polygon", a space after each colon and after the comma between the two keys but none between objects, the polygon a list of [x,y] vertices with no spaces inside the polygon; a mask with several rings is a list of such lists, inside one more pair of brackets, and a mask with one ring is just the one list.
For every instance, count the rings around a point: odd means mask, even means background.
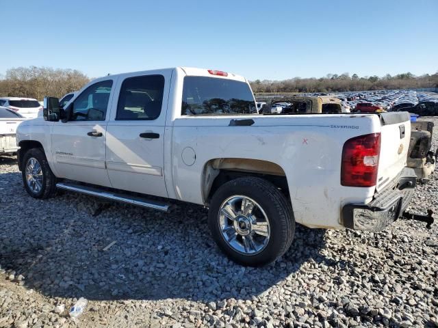
[{"label": "large red taillight on the white pickup's rear corner", "polygon": [[375,186],[380,151],[380,133],[348,139],[342,149],[341,184],[347,187]]}]

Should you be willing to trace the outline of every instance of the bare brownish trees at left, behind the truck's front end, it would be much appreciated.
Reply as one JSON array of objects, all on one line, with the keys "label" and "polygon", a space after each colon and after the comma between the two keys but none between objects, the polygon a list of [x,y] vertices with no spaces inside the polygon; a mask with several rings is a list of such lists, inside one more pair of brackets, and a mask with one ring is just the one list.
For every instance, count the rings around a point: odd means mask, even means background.
[{"label": "bare brownish trees at left, behind the truck's front end", "polygon": [[44,96],[62,97],[81,89],[90,79],[79,70],[48,67],[18,67],[0,79],[0,96],[42,100]]}]

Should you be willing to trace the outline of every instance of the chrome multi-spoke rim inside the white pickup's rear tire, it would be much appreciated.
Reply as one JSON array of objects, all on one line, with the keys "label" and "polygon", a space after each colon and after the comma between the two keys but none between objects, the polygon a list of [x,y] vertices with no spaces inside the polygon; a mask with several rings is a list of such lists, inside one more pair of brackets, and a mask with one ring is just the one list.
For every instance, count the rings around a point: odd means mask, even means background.
[{"label": "chrome multi-spoke rim inside the white pickup's rear tire", "polygon": [[227,198],[220,206],[218,223],[224,241],[241,254],[255,255],[268,245],[268,217],[249,197],[234,195]]}]

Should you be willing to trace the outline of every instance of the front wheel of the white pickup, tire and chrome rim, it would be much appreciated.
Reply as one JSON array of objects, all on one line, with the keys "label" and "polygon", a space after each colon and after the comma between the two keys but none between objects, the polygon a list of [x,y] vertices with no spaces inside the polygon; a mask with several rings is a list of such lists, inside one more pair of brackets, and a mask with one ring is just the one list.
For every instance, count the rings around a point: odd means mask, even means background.
[{"label": "front wheel of the white pickup, tire and chrome rim", "polygon": [[56,193],[56,177],[47,163],[46,155],[41,148],[32,148],[23,156],[24,187],[34,198],[45,199]]}]

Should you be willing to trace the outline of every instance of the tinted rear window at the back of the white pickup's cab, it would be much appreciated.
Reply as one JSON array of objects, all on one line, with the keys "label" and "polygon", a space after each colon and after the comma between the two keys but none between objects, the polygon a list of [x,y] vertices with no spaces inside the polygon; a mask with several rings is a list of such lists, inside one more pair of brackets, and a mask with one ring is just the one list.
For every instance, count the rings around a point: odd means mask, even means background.
[{"label": "tinted rear window at the back of the white pickup's cab", "polygon": [[181,115],[256,113],[255,101],[245,82],[214,77],[185,77]]}]

